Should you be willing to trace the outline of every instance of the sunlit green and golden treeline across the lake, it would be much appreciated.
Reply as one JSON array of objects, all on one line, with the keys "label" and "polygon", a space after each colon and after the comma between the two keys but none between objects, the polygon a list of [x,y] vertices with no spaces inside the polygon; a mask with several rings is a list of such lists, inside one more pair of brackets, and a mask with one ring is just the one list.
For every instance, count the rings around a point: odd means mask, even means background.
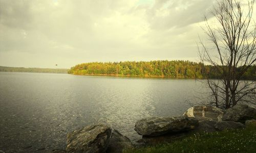
[{"label": "sunlit green and golden treeline across the lake", "polygon": [[[255,79],[256,67],[251,67],[244,79]],[[219,78],[213,67],[183,60],[90,62],[72,67],[68,72],[76,75],[111,75],[168,78]]]}]

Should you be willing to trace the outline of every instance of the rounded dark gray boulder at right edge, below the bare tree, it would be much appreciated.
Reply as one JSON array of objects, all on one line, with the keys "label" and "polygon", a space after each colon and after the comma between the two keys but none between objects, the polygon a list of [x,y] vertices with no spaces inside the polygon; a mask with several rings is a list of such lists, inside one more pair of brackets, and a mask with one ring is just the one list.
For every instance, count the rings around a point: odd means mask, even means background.
[{"label": "rounded dark gray boulder at right edge, below the bare tree", "polygon": [[255,114],[254,108],[245,104],[237,104],[224,112],[222,120],[245,123],[246,120],[252,119]]}]

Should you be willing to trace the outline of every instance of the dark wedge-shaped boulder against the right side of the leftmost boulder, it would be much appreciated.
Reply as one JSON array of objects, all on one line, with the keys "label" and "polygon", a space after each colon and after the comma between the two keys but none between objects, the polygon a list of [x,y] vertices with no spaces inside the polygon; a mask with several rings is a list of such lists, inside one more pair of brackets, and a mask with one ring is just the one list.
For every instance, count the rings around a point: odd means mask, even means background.
[{"label": "dark wedge-shaped boulder against the right side of the leftmost boulder", "polygon": [[110,144],[108,153],[119,153],[122,152],[124,149],[134,148],[131,140],[118,132],[118,130],[114,129],[112,131]]}]

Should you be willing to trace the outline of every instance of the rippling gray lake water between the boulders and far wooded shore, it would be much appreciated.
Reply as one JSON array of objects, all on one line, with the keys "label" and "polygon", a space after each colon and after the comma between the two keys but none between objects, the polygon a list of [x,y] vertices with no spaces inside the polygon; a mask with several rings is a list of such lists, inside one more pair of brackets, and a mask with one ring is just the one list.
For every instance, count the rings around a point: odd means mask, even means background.
[{"label": "rippling gray lake water between the boulders and far wooded shore", "polygon": [[135,142],[136,120],[182,115],[201,88],[193,79],[0,72],[0,150],[65,149],[67,133],[98,122]]}]

